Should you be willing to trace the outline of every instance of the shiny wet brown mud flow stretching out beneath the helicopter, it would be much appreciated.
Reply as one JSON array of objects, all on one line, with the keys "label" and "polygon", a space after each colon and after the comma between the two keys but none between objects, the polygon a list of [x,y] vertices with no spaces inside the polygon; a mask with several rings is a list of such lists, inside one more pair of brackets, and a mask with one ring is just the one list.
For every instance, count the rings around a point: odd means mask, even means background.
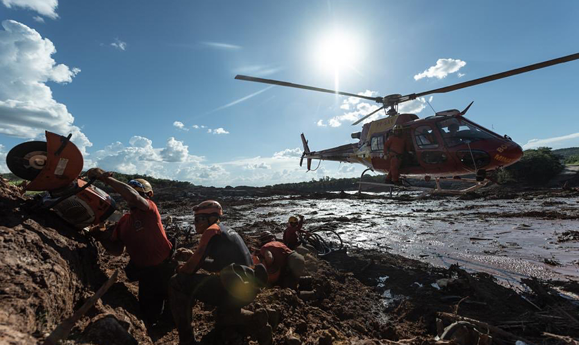
[{"label": "shiny wet brown mud flow stretching out beneath the helicopter", "polygon": [[[354,194],[354,192],[348,192]],[[512,200],[459,200],[444,197],[400,201],[379,199],[295,199],[261,197],[230,206],[228,225],[255,221],[283,223],[305,215],[305,229],[332,226],[348,248],[373,248],[449,267],[459,263],[505,283],[521,278],[579,280],[579,242],[559,243],[566,230],[579,230],[579,198],[518,197]],[[400,192],[400,196],[415,196]],[[188,216],[175,220],[190,225]],[[250,229],[246,229],[250,230]]]}]

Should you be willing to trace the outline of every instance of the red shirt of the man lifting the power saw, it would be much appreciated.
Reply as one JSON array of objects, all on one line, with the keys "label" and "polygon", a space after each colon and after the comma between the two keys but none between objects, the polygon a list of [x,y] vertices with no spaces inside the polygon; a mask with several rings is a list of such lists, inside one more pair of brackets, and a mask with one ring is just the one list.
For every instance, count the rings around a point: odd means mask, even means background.
[{"label": "red shirt of the man lifting the power saw", "polygon": [[147,201],[148,210],[131,209],[120,218],[112,233],[112,240],[122,241],[137,267],[159,265],[171,252],[157,205]]}]

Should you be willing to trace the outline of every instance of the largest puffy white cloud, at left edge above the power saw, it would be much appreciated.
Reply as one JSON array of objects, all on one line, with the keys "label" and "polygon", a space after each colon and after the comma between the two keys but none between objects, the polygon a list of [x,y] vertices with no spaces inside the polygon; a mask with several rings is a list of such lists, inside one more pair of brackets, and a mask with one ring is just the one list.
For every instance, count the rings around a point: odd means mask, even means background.
[{"label": "largest puffy white cloud, at left edge above the power saw", "polygon": [[66,135],[86,153],[91,142],[64,104],[52,98],[46,82],[72,82],[80,72],[56,64],[53,43],[38,32],[14,20],[2,21],[0,30],[0,134],[39,139],[44,131]]}]

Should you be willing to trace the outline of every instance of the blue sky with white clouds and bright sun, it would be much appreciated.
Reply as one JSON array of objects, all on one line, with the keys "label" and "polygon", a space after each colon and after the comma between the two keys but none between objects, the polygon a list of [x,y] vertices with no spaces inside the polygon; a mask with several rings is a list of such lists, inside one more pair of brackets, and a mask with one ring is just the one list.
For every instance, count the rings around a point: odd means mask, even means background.
[{"label": "blue sky with white clouds and bright sun", "polygon": [[[577,1],[0,0],[0,173],[14,145],[67,135],[98,166],[197,185],[358,177],[299,167],[353,142],[358,98],[419,93],[579,52]],[[523,148],[579,146],[579,60],[400,105],[464,109]],[[379,112],[368,120],[383,117]],[[314,162],[314,167],[317,163]]]}]

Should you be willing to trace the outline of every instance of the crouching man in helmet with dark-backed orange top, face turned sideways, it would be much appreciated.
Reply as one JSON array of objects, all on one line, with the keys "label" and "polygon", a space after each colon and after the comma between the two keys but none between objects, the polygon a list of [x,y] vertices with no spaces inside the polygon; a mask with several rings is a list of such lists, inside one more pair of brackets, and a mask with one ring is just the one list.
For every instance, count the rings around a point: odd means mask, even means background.
[{"label": "crouching man in helmet with dark-backed orange top, face turned sideways", "polygon": [[[169,283],[171,312],[181,345],[195,344],[191,326],[195,300],[218,307],[219,314],[241,319],[241,307],[251,303],[258,285],[267,281],[263,265],[251,269],[250,251],[241,236],[220,223],[223,210],[217,201],[203,201],[193,211],[195,230],[201,239],[195,252],[186,248],[177,250],[175,256],[186,262],[178,266]],[[201,268],[214,274],[197,273]],[[271,342],[270,326],[262,325],[258,331],[259,343]]]}]

